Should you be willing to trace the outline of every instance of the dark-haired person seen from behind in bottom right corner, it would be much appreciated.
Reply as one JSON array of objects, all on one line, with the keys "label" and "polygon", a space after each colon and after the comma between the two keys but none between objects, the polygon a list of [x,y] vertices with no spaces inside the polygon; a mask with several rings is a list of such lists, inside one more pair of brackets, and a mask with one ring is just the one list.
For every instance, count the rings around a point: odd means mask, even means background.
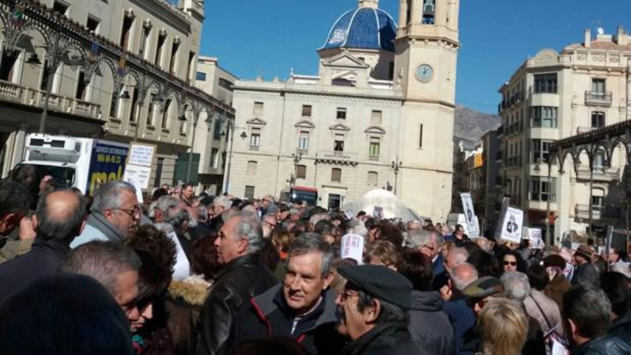
[{"label": "dark-haired person seen from behind in bottom right corner", "polygon": [[606,335],[611,326],[611,303],[601,289],[574,286],[563,294],[563,315],[570,325],[574,355],[629,355],[631,347]]}]

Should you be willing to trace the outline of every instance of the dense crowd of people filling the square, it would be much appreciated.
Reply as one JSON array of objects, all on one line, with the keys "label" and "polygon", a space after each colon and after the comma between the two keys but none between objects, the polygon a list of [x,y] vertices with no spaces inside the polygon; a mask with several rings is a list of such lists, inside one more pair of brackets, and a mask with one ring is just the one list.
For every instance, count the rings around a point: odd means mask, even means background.
[{"label": "dense crowd of people filling the square", "polygon": [[0,180],[0,352],[631,354],[624,250],[194,190]]}]

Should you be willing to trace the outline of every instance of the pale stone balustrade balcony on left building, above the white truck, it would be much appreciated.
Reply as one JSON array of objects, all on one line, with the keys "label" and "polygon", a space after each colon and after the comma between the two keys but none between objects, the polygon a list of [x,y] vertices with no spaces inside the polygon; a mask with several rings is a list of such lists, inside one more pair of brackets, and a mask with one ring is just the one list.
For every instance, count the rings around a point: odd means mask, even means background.
[{"label": "pale stone balustrade balcony on left building, above the white truck", "polygon": [[[26,88],[19,84],[0,80],[0,101],[19,103],[21,105],[44,107],[45,91]],[[49,110],[78,115],[89,119],[101,120],[101,105],[76,98],[49,95]]]}]

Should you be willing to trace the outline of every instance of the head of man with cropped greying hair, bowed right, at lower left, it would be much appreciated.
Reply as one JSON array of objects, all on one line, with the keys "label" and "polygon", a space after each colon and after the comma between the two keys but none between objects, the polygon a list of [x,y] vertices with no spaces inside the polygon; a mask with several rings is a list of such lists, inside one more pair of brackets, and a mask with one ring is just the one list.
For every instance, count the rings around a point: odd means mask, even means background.
[{"label": "head of man with cropped greying hair, bowed right, at lower left", "polygon": [[129,322],[136,322],[140,318],[136,306],[140,265],[138,255],[129,247],[98,240],[70,252],[59,271],[97,279],[121,306]]}]

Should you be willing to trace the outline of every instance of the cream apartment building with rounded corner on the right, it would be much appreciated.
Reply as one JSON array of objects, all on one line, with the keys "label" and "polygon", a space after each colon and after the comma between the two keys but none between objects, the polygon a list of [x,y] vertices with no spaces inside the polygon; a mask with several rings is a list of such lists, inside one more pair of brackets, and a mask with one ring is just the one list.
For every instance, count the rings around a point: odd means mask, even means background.
[{"label": "cream apartment building with rounded corner on the right", "polygon": [[580,44],[528,58],[499,90],[497,183],[524,210],[527,225],[545,230],[550,221],[557,242],[570,230],[601,233],[620,223],[622,149],[594,154],[593,174],[586,153],[566,159],[563,174],[556,160],[548,171],[547,161],[551,142],[627,119],[629,55],[631,37],[622,27],[615,35],[599,28],[595,37],[588,29]]}]

